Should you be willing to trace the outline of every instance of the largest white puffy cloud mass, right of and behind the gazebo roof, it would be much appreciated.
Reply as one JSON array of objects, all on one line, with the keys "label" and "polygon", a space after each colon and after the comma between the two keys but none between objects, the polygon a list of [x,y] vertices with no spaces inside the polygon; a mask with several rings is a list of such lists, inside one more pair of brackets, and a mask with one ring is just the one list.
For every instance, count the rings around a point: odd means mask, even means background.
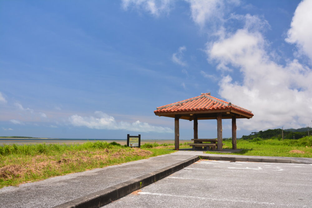
[{"label": "largest white puffy cloud mass, right of and behind the gazebo roof", "polygon": [[252,110],[255,116],[241,121],[241,127],[262,130],[300,127],[312,114],[312,70],[298,60],[287,65],[271,61],[260,32],[239,29],[208,46],[210,59],[219,66],[232,65],[243,75],[241,83],[224,75],[219,94],[227,101]]}]

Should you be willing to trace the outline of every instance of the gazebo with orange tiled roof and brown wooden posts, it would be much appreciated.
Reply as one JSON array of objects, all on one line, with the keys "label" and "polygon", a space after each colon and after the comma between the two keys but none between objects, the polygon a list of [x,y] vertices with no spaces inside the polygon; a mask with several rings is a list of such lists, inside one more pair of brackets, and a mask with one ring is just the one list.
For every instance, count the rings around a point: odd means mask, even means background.
[{"label": "gazebo with orange tiled roof and brown wooden posts", "polygon": [[179,149],[179,119],[194,121],[194,143],[198,139],[197,120],[217,119],[217,150],[222,151],[222,119],[232,119],[232,148],[236,149],[236,119],[250,119],[250,110],[212,97],[210,93],[158,107],[155,115],[174,118],[174,148]]}]

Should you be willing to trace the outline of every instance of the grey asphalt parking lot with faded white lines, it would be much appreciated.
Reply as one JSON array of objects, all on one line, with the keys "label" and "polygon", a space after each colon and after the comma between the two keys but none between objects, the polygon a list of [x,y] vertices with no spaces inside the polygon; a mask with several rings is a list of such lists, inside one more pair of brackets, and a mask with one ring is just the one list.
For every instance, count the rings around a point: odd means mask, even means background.
[{"label": "grey asphalt parking lot with faded white lines", "polygon": [[312,207],[312,165],[200,160],[104,207]]}]

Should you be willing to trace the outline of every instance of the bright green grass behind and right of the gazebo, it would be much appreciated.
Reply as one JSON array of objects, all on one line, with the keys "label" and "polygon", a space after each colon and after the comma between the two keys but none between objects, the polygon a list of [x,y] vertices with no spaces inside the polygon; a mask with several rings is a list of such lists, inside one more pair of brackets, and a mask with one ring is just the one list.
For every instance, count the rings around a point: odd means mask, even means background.
[{"label": "bright green grass behind and right of the gazebo", "polygon": [[[232,149],[232,140],[223,141],[224,149]],[[261,139],[237,140],[237,149],[243,149],[236,153],[218,153],[212,154],[234,154],[234,155],[255,155],[255,156],[276,156],[276,157],[312,157],[312,136],[300,139]],[[290,152],[293,150],[299,150]],[[301,153],[300,153],[301,151]],[[297,153],[296,153],[297,152]]]}]

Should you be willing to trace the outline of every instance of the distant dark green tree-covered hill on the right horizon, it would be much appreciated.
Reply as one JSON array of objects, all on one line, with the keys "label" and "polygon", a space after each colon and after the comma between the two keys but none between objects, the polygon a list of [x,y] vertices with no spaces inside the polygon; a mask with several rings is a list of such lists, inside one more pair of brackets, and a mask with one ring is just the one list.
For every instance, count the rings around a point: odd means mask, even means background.
[{"label": "distant dark green tree-covered hill on the right horizon", "polygon": [[[302,129],[306,129],[303,131]],[[310,128],[310,135],[312,129]],[[299,128],[299,129],[286,129],[284,130],[285,139],[300,139],[302,137],[308,136],[308,128]],[[253,138],[263,138],[263,139],[281,139],[282,138],[282,129],[268,129],[265,131],[251,132],[249,135],[243,135],[241,139],[253,139]]]}]

